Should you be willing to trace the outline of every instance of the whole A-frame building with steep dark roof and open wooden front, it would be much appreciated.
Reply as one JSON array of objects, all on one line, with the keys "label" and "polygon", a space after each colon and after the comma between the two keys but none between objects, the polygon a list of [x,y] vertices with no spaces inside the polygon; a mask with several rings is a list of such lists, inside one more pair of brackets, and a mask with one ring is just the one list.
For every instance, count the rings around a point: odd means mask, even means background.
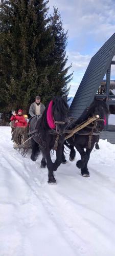
[{"label": "whole A-frame building with steep dark roof and open wooden front", "polygon": [[93,101],[95,95],[100,100],[107,98],[107,105],[111,114],[107,116],[105,130],[115,131],[115,81],[110,80],[111,66],[115,65],[114,58],[115,33],[91,58],[71,104],[70,117],[78,119],[87,106],[90,105],[91,101]]}]

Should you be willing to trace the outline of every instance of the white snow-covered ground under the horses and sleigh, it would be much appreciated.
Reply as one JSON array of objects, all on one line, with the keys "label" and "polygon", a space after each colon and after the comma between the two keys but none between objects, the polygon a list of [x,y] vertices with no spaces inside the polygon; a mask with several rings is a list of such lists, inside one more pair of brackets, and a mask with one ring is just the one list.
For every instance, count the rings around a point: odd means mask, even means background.
[{"label": "white snow-covered ground under the horses and sleigh", "polygon": [[57,185],[49,185],[41,157],[22,158],[10,127],[0,133],[0,255],[114,256],[115,145],[100,140],[90,178],[68,161],[55,174]]}]

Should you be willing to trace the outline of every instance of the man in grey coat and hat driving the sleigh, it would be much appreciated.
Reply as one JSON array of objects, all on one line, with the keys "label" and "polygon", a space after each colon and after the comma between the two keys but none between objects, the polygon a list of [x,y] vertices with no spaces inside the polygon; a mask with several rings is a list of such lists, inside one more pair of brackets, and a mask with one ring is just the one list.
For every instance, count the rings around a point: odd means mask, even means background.
[{"label": "man in grey coat and hat driving the sleigh", "polygon": [[45,110],[45,106],[40,102],[41,98],[40,96],[36,96],[35,98],[35,102],[33,102],[30,106],[30,110],[29,110],[29,114],[31,117],[36,116],[36,115],[42,115],[44,110]]}]

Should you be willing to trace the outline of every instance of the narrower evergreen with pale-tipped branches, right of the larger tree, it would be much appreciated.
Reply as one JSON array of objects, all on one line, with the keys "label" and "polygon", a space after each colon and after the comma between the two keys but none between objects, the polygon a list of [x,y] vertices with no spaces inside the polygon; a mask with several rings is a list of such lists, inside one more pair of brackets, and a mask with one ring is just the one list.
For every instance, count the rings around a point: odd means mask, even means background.
[{"label": "narrower evergreen with pale-tipped branches, right of the larger tree", "polygon": [[68,57],[66,56],[67,32],[64,32],[60,13],[54,7],[51,20],[54,47],[49,58],[49,84],[54,95],[67,96],[70,88],[68,83],[72,80],[73,73],[67,75],[71,66],[66,67]]}]

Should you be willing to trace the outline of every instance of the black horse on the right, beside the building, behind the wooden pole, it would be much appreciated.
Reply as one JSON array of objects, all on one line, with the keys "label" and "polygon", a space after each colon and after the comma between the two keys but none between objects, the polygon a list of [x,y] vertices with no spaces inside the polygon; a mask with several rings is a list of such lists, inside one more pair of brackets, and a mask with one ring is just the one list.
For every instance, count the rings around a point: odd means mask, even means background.
[{"label": "black horse on the right, beside the building, behind the wooden pole", "polygon": [[[71,129],[73,129],[77,124],[80,124],[94,115],[99,115],[99,119],[95,122],[90,123],[88,126],[84,127],[81,131],[75,134],[73,137],[65,141],[65,145],[70,148],[70,161],[74,161],[76,156],[76,151],[81,155],[81,160],[77,161],[76,165],[81,169],[81,175],[83,177],[89,177],[89,172],[87,168],[87,163],[90,158],[90,153],[94,148],[95,143],[99,141],[99,132],[104,129],[104,120],[107,114],[109,114],[106,100],[97,100],[96,98],[90,104],[90,106],[83,112],[81,117],[73,123]],[[84,149],[86,148],[86,151]],[[64,152],[64,151],[63,151]],[[64,153],[62,155],[62,162],[64,163],[65,157]]]}]

